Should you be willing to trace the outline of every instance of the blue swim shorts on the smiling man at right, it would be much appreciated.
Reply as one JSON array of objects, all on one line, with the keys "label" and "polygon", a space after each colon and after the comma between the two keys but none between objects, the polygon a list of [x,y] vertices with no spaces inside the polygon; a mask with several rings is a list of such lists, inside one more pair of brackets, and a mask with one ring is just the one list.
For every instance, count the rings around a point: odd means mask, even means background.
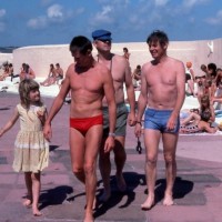
[{"label": "blue swim shorts on the smiling man at right", "polygon": [[172,113],[172,110],[154,110],[148,108],[145,110],[144,129],[158,130],[161,133],[178,133],[180,129],[180,119],[178,118],[176,125],[173,130],[168,130],[168,120]]}]

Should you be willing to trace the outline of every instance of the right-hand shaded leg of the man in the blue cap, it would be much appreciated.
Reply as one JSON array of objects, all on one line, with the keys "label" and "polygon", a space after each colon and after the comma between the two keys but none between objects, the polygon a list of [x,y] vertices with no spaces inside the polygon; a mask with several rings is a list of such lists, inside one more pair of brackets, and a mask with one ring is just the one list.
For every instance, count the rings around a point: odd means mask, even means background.
[{"label": "right-hand shaded leg of the man in the blue cap", "polygon": [[114,162],[117,167],[117,183],[120,191],[125,191],[127,184],[123,178],[122,171],[127,160],[127,153],[124,150],[125,137],[115,137],[115,147],[114,147]]}]

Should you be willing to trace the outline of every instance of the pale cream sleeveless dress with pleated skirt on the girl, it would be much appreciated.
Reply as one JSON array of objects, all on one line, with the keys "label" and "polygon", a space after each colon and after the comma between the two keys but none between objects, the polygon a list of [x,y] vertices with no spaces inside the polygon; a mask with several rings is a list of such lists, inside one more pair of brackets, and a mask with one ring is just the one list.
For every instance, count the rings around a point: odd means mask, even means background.
[{"label": "pale cream sleeveless dress with pleated skirt on the girl", "polygon": [[17,105],[20,115],[20,131],[14,142],[13,170],[39,172],[49,164],[49,143],[43,137],[43,127],[37,111],[46,107],[31,107],[29,110]]}]

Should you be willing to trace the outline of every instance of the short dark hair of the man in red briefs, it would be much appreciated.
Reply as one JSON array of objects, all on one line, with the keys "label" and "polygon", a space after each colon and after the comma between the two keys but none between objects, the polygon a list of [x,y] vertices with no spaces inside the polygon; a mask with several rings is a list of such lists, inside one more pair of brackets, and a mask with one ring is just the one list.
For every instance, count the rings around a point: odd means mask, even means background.
[{"label": "short dark hair of the man in red briefs", "polygon": [[89,50],[92,51],[91,41],[83,36],[74,37],[70,43],[70,51],[78,50],[81,54],[85,54]]}]

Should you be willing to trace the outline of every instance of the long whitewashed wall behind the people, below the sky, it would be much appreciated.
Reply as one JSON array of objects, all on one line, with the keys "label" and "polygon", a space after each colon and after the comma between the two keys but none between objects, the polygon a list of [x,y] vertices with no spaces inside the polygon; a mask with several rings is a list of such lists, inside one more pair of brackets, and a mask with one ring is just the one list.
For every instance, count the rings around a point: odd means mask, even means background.
[{"label": "long whitewashed wall behind the people, below the sky", "polygon": [[[214,62],[222,68],[222,39],[213,40],[214,50],[211,54],[208,42],[211,41],[172,41],[169,44],[168,54],[184,63],[191,61],[195,74],[201,72],[200,65],[202,63]],[[143,64],[152,59],[145,42],[112,43],[112,52],[122,54],[123,47],[127,47],[131,53],[130,65],[132,70],[137,64]],[[93,54],[97,54],[95,50],[93,50]],[[24,47],[13,50],[14,73],[20,71],[23,62],[30,64],[37,77],[47,77],[50,63],[59,62],[65,71],[68,65],[73,62],[73,58],[68,44]]]}]

